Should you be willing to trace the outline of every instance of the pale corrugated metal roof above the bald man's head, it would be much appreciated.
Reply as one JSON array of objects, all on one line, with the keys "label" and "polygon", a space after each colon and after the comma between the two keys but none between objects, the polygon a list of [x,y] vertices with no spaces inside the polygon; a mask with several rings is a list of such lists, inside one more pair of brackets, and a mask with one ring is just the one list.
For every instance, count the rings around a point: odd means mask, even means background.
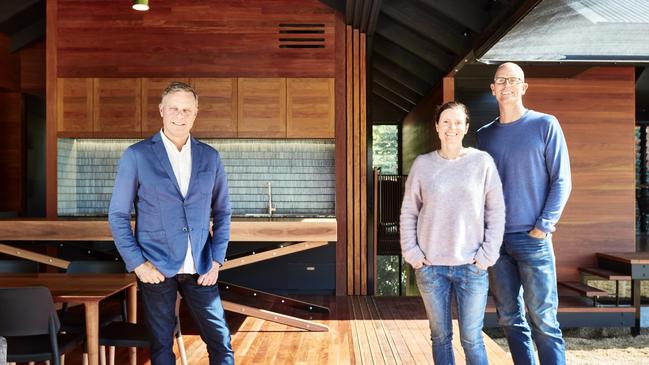
[{"label": "pale corrugated metal roof above the bald man's head", "polygon": [[480,61],[649,62],[649,1],[544,0]]}]

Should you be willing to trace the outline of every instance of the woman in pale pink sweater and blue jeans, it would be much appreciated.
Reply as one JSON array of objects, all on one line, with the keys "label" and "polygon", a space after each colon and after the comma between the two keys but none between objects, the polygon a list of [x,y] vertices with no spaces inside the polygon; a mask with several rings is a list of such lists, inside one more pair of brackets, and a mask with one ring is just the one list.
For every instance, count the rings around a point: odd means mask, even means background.
[{"label": "woman in pale pink sweater and blue jeans", "polygon": [[415,269],[438,365],[454,364],[451,302],[457,302],[467,364],[488,364],[482,324],[487,268],[498,259],[505,203],[498,170],[486,152],[462,146],[469,130],[464,104],[436,112],[441,148],[417,157],[401,207],[401,251]]}]

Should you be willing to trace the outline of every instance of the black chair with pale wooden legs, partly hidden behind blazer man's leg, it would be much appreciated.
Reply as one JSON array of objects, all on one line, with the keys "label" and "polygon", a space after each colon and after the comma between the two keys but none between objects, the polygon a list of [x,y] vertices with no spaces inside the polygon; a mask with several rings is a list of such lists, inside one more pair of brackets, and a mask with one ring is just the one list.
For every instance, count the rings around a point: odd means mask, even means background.
[{"label": "black chair with pale wooden legs, partly hidden behind blazer man's leg", "polygon": [[[174,336],[180,352],[181,364],[187,365],[187,353],[182,332],[180,331],[180,319],[178,318],[179,307],[180,296],[176,300]],[[99,363],[101,365],[106,364],[106,346],[109,347],[108,363],[109,365],[115,365],[115,347],[148,348],[151,346],[148,328],[142,323],[111,322],[99,330]]]}]

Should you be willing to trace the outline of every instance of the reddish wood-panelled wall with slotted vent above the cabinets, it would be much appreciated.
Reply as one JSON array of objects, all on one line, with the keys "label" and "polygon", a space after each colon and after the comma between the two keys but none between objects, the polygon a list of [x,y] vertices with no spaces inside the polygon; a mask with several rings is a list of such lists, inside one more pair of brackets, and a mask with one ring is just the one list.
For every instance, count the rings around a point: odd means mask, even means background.
[{"label": "reddish wood-panelled wall with slotted vent above the cabinets", "polygon": [[[335,11],[317,0],[52,0],[59,77],[333,77]],[[324,25],[324,48],[280,48],[279,25]],[[108,31],[109,30],[109,31]]]}]

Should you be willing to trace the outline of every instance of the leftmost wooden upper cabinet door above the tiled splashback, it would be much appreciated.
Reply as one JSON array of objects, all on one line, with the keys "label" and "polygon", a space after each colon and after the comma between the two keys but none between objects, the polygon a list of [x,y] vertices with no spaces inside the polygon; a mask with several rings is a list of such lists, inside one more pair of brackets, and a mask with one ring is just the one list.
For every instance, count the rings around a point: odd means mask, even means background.
[{"label": "leftmost wooden upper cabinet door above the tiled splashback", "polygon": [[60,137],[92,137],[93,79],[56,80],[56,130]]}]

